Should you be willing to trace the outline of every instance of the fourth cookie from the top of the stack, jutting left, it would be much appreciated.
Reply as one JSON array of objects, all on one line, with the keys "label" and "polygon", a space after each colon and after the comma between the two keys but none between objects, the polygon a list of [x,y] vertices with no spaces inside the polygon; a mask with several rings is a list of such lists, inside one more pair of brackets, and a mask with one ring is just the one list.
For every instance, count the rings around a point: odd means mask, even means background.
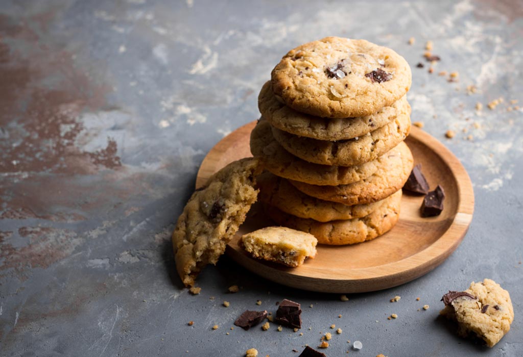
[{"label": "fourth cookie from the top of the stack, jutting left", "polygon": [[310,163],[295,157],[278,144],[270,124],[261,118],[251,133],[251,152],[264,162],[265,169],[277,176],[312,185],[345,185],[357,182],[378,170],[378,161],[355,166],[330,166]]}]

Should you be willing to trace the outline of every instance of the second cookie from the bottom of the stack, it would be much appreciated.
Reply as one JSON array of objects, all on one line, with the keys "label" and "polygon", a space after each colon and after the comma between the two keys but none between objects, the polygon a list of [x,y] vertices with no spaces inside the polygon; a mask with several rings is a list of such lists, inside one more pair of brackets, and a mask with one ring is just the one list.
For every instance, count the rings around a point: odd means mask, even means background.
[{"label": "second cookie from the bottom of the stack", "polygon": [[259,175],[256,181],[260,189],[260,202],[274,206],[289,215],[311,218],[319,222],[364,217],[380,205],[380,201],[355,206],[324,201],[305,195],[287,180],[268,172]]}]

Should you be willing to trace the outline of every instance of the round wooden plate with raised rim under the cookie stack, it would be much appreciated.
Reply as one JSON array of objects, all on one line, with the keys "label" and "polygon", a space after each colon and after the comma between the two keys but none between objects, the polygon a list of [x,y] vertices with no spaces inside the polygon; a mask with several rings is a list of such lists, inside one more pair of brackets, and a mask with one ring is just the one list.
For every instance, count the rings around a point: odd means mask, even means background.
[{"label": "round wooden plate with raised rim under the cookie stack", "polygon": [[[246,124],[215,145],[203,159],[196,187],[226,164],[252,156],[249,137],[256,122]],[[331,293],[381,290],[416,279],[440,265],[460,244],[474,210],[474,192],[467,171],[437,139],[412,127],[405,140],[414,163],[421,163],[431,189],[445,189],[445,209],[440,216],[422,218],[423,196],[403,194],[400,220],[388,233],[369,242],[318,245],[317,255],[298,268],[287,268],[251,258],[238,247],[242,234],[274,225],[254,205],[226,253],[238,264],[266,279],[289,287]]]}]

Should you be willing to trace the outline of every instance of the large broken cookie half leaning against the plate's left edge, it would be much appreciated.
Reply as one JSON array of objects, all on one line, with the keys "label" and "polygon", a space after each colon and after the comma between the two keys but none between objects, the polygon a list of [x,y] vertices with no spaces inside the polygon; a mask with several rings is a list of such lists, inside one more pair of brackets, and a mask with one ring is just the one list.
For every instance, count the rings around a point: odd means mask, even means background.
[{"label": "large broken cookie half leaning against the plate's left edge", "polygon": [[186,286],[200,270],[216,264],[251,205],[255,203],[258,159],[234,161],[212,175],[185,205],[173,232],[176,270]]}]

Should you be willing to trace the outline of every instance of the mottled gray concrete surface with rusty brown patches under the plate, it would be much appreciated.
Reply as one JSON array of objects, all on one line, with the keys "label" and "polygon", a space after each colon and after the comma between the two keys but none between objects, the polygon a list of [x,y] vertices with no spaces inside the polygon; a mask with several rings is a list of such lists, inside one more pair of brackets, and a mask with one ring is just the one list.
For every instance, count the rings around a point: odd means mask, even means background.
[{"label": "mottled gray concrete surface with rusty brown patches under the plate", "polygon": [[[469,233],[426,276],[348,302],[271,283],[227,257],[190,295],[169,235],[204,154],[257,118],[257,93],[283,54],[326,35],[407,58],[412,120],[474,183]],[[295,356],[331,324],[343,334],[327,356],[522,355],[523,115],[507,111],[523,104],[522,38],[522,3],[508,0],[2,1],[0,355],[242,356],[254,347]],[[433,74],[415,67],[426,40],[441,56]],[[477,92],[467,94],[469,85]],[[457,136],[446,139],[448,129]],[[510,291],[516,312],[493,349],[438,318],[443,293],[485,277]],[[226,293],[231,284],[241,291]],[[394,295],[402,299],[390,303]],[[244,310],[274,312],[283,298],[302,304],[303,336],[275,324],[230,330]],[[399,317],[386,319],[392,313]]]}]

